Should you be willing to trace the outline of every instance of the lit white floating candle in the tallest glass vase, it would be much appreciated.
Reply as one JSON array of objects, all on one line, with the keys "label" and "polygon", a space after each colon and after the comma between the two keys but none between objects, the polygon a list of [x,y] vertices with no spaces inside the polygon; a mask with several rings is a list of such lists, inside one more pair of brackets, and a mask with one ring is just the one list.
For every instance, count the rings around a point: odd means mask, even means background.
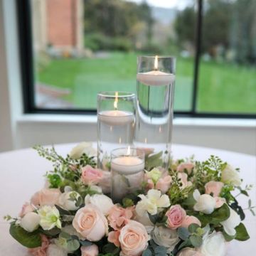
[{"label": "lit white floating candle in the tallest glass vase", "polygon": [[169,85],[174,82],[175,75],[170,73],[161,72],[158,65],[158,56],[154,59],[154,70],[137,73],[137,80],[145,85]]}]

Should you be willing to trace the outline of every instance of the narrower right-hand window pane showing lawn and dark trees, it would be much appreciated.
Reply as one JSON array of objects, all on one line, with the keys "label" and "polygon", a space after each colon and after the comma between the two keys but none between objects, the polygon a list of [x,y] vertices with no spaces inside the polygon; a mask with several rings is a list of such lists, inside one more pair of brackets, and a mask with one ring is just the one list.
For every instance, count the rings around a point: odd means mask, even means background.
[{"label": "narrower right-hand window pane showing lawn and dark trees", "polygon": [[256,113],[256,1],[203,1],[198,111]]}]

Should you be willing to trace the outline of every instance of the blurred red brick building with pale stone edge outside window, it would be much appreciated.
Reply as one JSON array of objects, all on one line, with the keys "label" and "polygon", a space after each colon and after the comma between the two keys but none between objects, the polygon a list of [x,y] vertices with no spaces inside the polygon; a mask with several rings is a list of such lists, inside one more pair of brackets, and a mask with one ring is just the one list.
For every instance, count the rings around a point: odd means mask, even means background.
[{"label": "blurred red brick building with pale stone edge outside window", "polygon": [[36,51],[83,49],[82,0],[31,0]]}]

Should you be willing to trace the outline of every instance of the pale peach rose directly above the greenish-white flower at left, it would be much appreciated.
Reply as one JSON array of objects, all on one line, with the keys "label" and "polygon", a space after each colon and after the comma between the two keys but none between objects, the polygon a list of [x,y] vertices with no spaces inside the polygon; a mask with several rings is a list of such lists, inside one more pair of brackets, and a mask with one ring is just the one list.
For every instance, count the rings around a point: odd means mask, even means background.
[{"label": "pale peach rose directly above the greenish-white flower at left", "polygon": [[58,203],[60,195],[58,188],[43,188],[32,196],[31,203],[34,206],[54,206]]}]

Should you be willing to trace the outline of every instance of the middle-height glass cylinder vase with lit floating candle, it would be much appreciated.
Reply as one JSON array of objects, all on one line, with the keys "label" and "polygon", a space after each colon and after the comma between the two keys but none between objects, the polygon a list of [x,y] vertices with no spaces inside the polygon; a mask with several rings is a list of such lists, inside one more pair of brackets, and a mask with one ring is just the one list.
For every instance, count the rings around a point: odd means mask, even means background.
[{"label": "middle-height glass cylinder vase with lit floating candle", "polygon": [[97,166],[110,170],[110,152],[132,145],[135,100],[131,92],[100,92],[97,95]]}]

